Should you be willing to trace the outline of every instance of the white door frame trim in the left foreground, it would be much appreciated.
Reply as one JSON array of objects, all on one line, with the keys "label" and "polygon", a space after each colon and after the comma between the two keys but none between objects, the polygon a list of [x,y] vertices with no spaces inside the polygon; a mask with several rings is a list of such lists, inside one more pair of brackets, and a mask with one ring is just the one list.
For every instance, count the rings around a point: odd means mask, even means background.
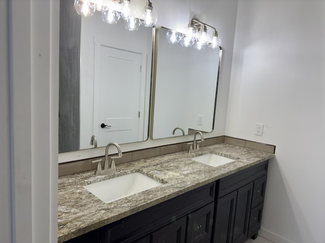
[{"label": "white door frame trim in the left foreground", "polygon": [[[10,11],[6,3],[12,6]],[[0,89],[0,149],[4,161],[0,170],[0,241],[57,242],[58,1],[9,0],[0,6],[0,69],[4,78]],[[8,22],[12,30],[9,48]],[[8,68],[12,70],[9,80]],[[9,112],[13,117],[12,136]],[[10,161],[14,174],[13,237]],[[7,232],[3,234],[3,230]]]}]

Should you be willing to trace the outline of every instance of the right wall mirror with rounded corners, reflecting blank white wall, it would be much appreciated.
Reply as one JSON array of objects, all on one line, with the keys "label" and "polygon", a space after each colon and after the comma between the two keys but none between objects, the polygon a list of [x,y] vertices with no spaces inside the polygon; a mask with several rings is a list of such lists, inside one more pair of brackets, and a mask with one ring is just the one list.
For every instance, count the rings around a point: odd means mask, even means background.
[{"label": "right wall mirror with rounded corners, reflecting blank white wall", "polygon": [[212,132],[214,127],[221,48],[196,50],[170,44],[157,30],[151,137],[168,138]]}]

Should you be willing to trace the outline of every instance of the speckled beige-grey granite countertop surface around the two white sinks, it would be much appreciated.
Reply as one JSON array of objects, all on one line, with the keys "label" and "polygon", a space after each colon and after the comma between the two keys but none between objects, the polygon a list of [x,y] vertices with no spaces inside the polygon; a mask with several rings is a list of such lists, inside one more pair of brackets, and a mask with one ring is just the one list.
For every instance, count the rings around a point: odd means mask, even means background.
[{"label": "speckled beige-grey granite countertop surface around the two white sinks", "polygon": [[[237,160],[214,168],[190,159],[206,153]],[[89,171],[60,177],[58,242],[102,227],[272,157],[272,153],[221,143],[202,147],[191,154],[181,151],[125,163],[116,166],[117,172],[109,175],[95,176],[94,171]],[[134,172],[163,184],[108,204],[83,188],[84,185]]]}]

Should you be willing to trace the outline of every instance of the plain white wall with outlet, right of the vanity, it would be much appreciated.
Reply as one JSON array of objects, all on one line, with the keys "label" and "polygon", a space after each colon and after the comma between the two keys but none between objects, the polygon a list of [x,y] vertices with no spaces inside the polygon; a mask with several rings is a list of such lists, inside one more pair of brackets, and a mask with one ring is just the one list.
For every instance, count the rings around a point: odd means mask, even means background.
[{"label": "plain white wall with outlet, right of the vanity", "polygon": [[260,233],[277,243],[325,242],[324,16],[317,0],[238,5],[225,134],[276,145]]}]

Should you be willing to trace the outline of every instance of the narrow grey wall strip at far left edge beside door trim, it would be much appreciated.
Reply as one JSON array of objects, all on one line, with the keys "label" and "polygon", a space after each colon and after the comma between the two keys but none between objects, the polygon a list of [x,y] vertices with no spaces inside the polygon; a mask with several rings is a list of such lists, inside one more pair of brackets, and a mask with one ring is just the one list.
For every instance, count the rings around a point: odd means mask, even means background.
[{"label": "narrow grey wall strip at far left edge beside door trim", "polygon": [[7,2],[0,1],[0,239],[12,241]]}]

